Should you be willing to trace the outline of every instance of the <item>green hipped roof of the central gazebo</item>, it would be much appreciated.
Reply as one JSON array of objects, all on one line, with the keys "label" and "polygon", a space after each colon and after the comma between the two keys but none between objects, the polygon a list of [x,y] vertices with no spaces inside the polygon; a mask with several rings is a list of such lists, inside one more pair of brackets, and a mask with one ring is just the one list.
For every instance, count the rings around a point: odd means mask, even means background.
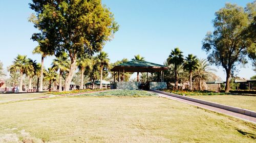
[{"label": "green hipped roof of the central gazebo", "polygon": [[146,61],[132,60],[115,66],[111,71],[118,72],[124,70],[125,72],[159,72],[167,69],[167,66]]}]

